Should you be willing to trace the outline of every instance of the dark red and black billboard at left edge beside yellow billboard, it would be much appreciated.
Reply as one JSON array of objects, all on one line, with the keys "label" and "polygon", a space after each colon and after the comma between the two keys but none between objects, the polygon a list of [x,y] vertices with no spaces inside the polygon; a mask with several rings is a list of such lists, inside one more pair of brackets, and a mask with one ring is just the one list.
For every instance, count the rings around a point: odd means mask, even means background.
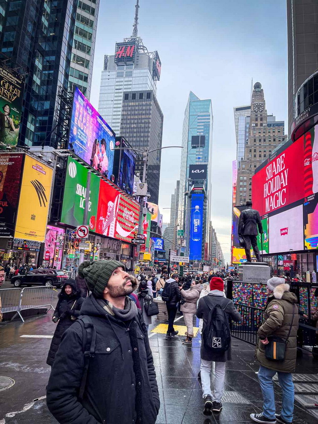
[{"label": "dark red and black billboard at left edge beside yellow billboard", "polygon": [[0,237],[13,237],[21,187],[23,154],[0,154]]}]

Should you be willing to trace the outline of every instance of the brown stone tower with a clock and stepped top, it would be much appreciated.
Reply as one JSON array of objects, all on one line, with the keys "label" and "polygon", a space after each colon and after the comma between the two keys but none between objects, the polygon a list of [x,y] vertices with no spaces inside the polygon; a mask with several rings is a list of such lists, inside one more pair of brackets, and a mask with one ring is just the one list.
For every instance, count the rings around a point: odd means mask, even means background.
[{"label": "brown stone tower with a clock and stepped top", "polygon": [[246,200],[251,199],[255,169],[287,140],[284,121],[276,121],[275,116],[268,115],[264,91],[259,82],[254,84],[252,92],[247,131],[244,158],[238,162],[236,205],[245,204]]}]

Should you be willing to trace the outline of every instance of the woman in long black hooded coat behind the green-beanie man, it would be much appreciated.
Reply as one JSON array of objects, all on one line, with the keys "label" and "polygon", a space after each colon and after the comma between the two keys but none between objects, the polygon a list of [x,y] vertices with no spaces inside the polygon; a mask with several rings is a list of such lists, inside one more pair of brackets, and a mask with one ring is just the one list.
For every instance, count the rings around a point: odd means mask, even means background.
[{"label": "woman in long black hooded coat behind the green-beanie man", "polygon": [[75,280],[72,278],[67,279],[59,294],[59,301],[52,317],[52,321],[58,323],[58,325],[48,351],[46,359],[48,365],[52,366],[54,363],[63,333],[80,315],[83,300],[81,292],[77,289]]}]

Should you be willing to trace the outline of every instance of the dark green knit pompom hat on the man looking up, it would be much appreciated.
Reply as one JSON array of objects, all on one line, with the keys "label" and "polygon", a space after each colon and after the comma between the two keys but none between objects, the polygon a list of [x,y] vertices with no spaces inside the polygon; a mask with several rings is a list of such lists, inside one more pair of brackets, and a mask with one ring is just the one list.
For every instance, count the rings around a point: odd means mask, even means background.
[{"label": "dark green knit pompom hat on the man looking up", "polygon": [[125,265],[118,260],[84,260],[78,267],[78,275],[85,279],[85,284],[94,297],[103,297],[103,292],[114,270]]}]

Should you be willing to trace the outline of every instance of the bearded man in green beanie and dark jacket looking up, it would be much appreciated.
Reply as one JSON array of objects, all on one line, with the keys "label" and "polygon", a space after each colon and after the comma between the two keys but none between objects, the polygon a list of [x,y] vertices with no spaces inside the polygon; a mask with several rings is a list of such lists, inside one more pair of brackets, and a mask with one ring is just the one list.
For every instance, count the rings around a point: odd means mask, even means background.
[{"label": "bearded man in green beanie and dark jacket looking up", "polygon": [[61,424],[154,424],[160,401],[153,358],[142,314],[128,297],[136,278],[116,260],[85,261],[78,274],[91,294],[56,354],[49,410]]}]

